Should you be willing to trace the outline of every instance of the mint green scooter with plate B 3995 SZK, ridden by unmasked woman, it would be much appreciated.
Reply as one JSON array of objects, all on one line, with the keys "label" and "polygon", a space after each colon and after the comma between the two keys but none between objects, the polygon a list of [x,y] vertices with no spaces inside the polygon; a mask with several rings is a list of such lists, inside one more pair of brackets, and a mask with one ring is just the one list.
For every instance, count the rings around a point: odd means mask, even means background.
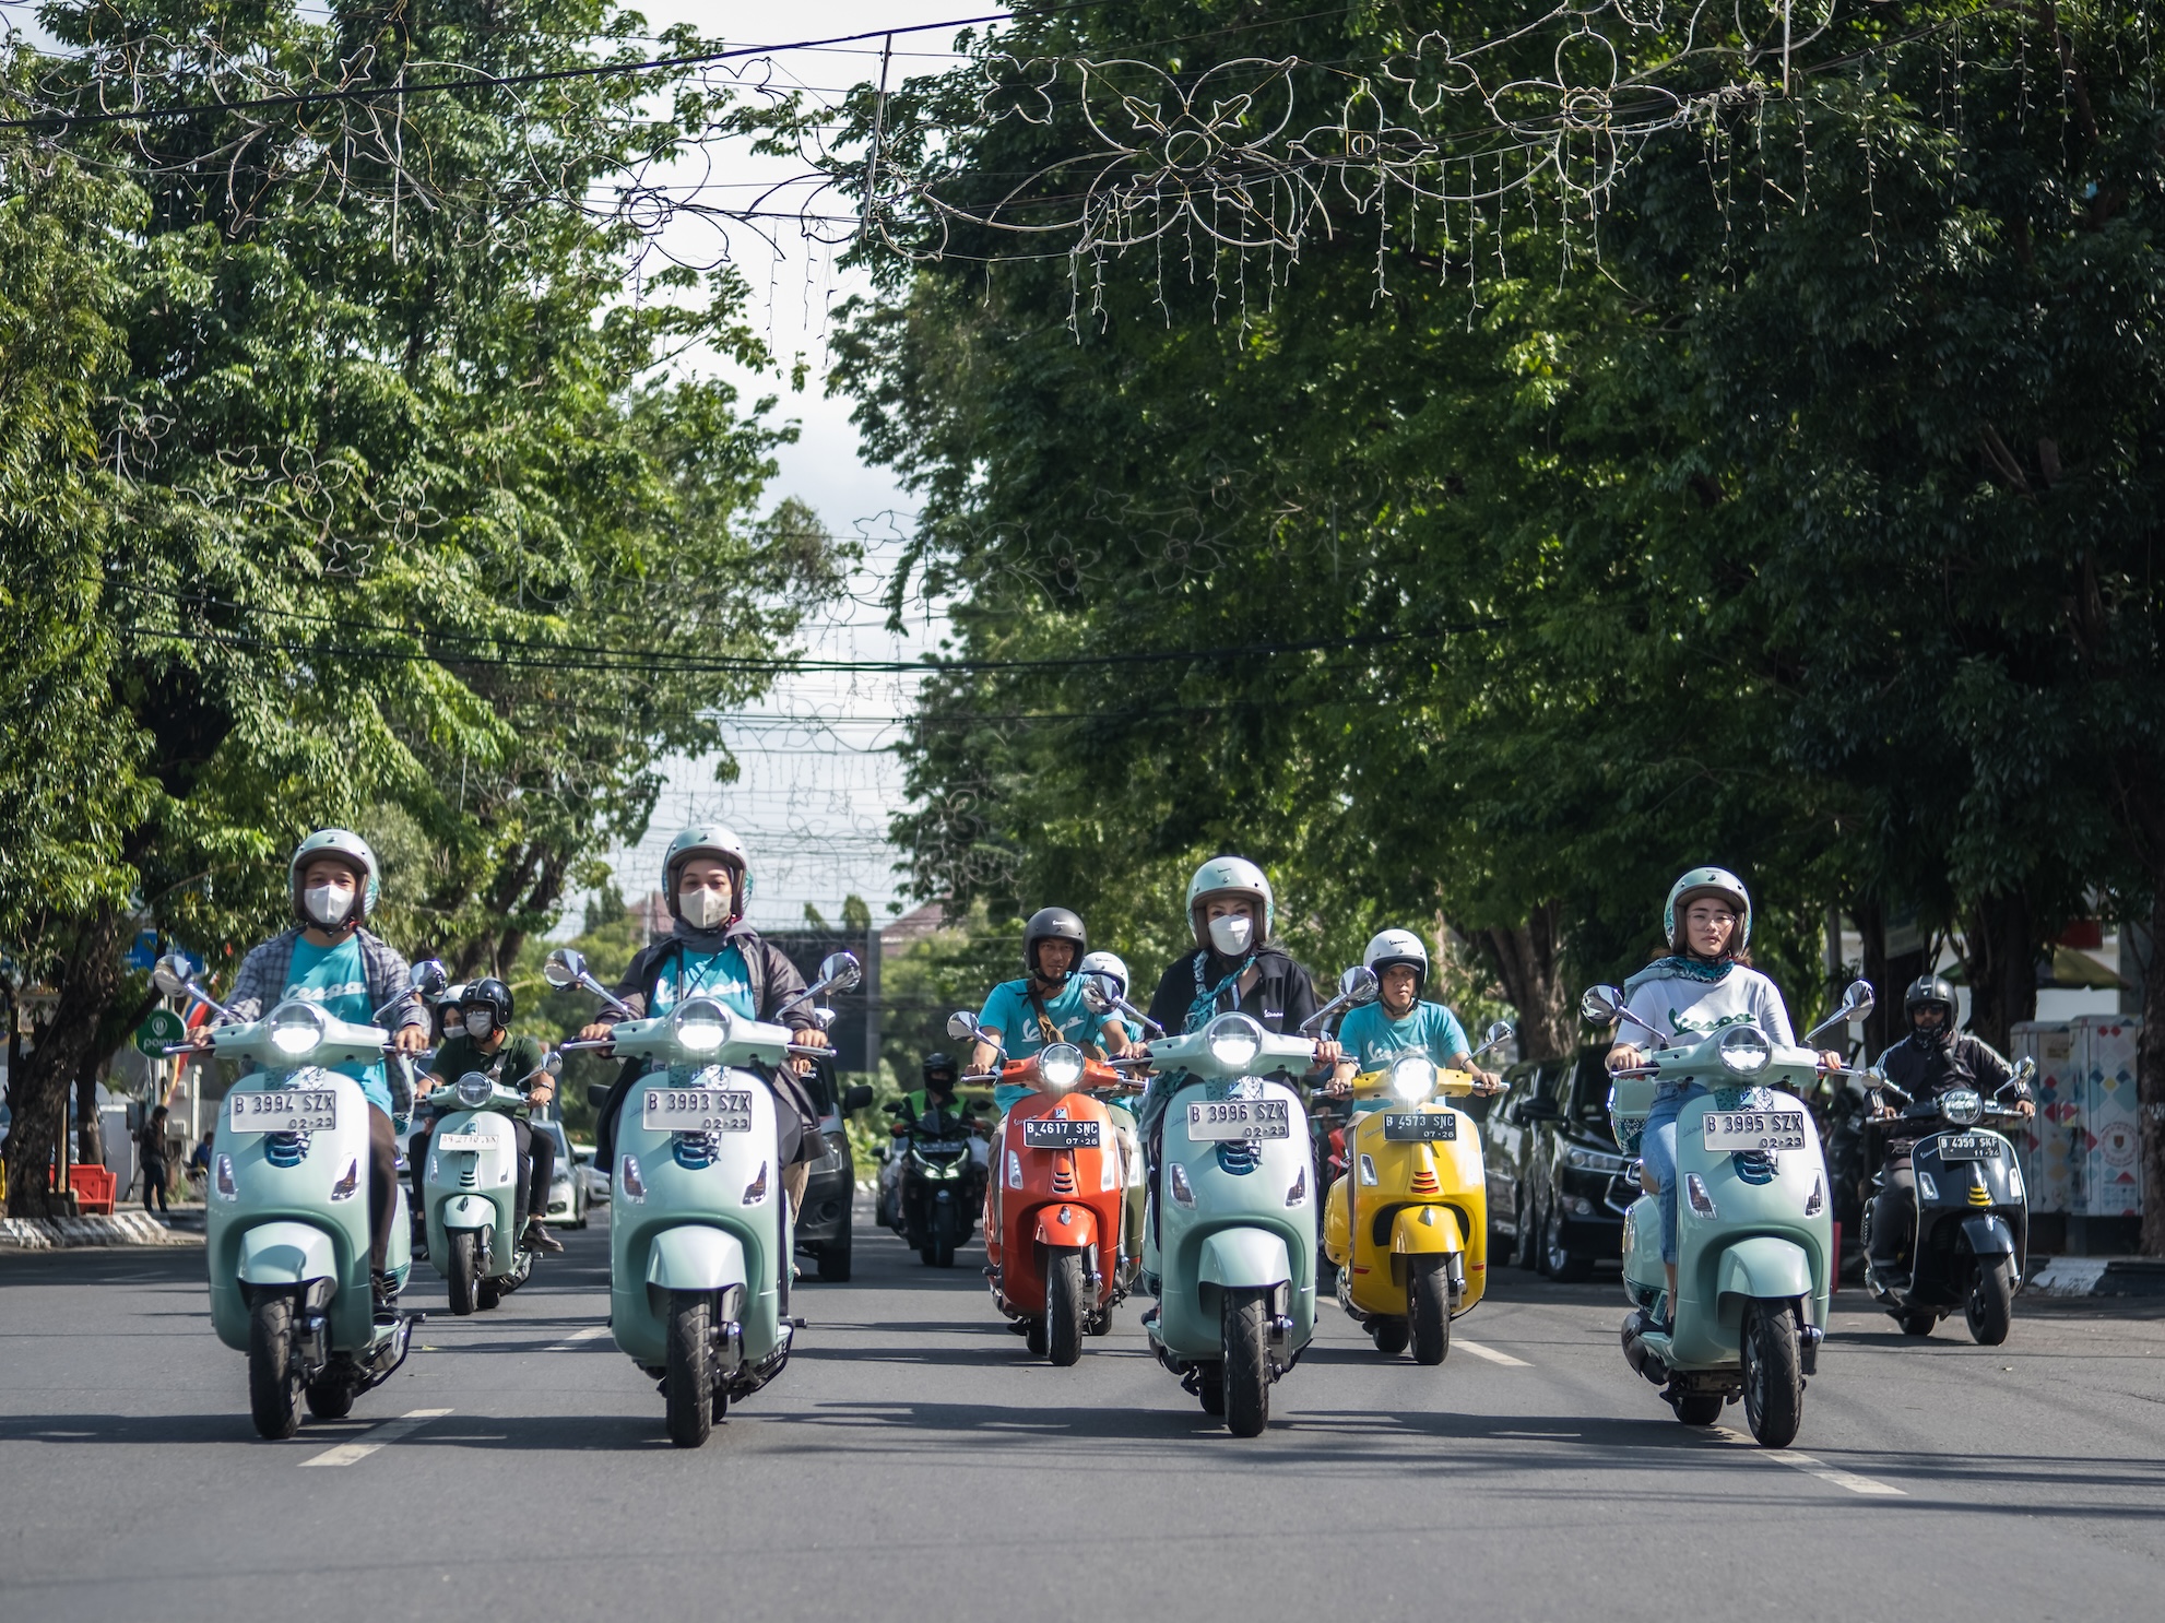
[{"label": "mint green scooter with plate B 3995 SZK, ridden by unmasked woman", "polygon": [[[1617,987],[1591,987],[1578,1013],[1609,1024]],[[1609,1121],[1626,1156],[1639,1153],[1658,1082],[1697,1082],[1676,1121],[1676,1296],[1671,1327],[1656,1318],[1667,1292],[1661,1208],[1641,1195],[1624,1214],[1624,1359],[1663,1389],[1687,1426],[1713,1426],[1738,1396],[1764,1448],[1788,1448],[1803,1424],[1803,1385],[1819,1368],[1834,1268],[1834,1216],[1819,1127],[1799,1093],[1821,1078],[1812,1043],[1864,1019],[1873,989],[1858,980],[1803,1047],[1777,1047],[1756,1026],[1728,1026],[1687,1047],[1656,1050],[1617,1071]]]}]

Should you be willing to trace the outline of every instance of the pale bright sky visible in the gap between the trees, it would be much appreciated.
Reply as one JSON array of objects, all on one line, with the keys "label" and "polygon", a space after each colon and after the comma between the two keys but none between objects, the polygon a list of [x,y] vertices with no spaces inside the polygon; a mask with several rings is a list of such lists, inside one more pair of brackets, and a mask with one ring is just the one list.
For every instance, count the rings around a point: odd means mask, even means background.
[{"label": "pale bright sky visible in the gap between the trees", "polygon": [[[992,4],[968,0],[818,0],[810,6],[745,4],[743,0],[654,0],[643,6],[656,28],[691,22],[701,35],[734,45],[786,43],[797,39],[853,35],[920,22],[948,22],[996,13]],[[894,80],[903,74],[937,71],[955,30],[901,35],[894,41]],[[851,45],[779,52],[773,71],[784,82],[847,89],[877,82],[881,39]],[[740,149],[710,154],[712,180],[743,195],[756,182],[777,180],[795,164],[758,158]],[[671,227],[675,229],[675,227]],[[697,240],[693,240],[697,232]],[[708,227],[688,223],[684,258],[712,253]],[[920,612],[907,634],[890,634],[879,599],[911,532],[916,502],[883,467],[860,457],[857,431],[849,422],[849,400],[825,396],[827,312],[851,292],[866,292],[862,277],[838,273],[831,251],[784,236],[779,249],[743,232],[732,255],[753,290],[751,320],[788,368],[797,355],[810,361],[803,394],[788,394],[786,379],[745,377],[712,355],[693,357],[695,370],[734,377],[747,400],[784,392],[777,415],[795,418],[801,437],[782,448],[779,478],[771,500],[797,496],[812,504],[836,535],[864,543],[864,563],[851,582],[851,597],[821,612],[801,641],[821,660],[914,660],[933,647],[940,621]],[[803,673],[784,677],[775,692],[727,723],[730,747],[740,764],[736,783],[714,781],[714,762],[671,764],[669,788],[654,809],[647,837],[611,855],[617,885],[641,896],[660,883],[658,863],[669,837],[691,822],[725,822],[751,853],[751,900],[747,915],[764,928],[801,924],[805,905],[838,920],[842,898],[857,894],[883,920],[890,905],[907,907],[894,874],[896,853],[888,844],[888,820],[903,807],[901,762],[881,749],[896,738],[890,718],[905,716],[914,677]],[[569,928],[576,928],[576,909]]]}]

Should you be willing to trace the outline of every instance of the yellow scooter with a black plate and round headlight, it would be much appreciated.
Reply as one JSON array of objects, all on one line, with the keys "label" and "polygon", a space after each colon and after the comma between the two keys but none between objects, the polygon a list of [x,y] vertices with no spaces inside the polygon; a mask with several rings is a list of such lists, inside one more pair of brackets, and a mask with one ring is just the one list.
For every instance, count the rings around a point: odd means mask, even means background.
[{"label": "yellow scooter with a black plate and round headlight", "polygon": [[[1481,1047],[1509,1037],[1498,1021]],[[1394,1357],[1412,1342],[1416,1363],[1442,1363],[1451,1320],[1487,1288],[1481,1130],[1446,1104],[1472,1091],[1472,1076],[1438,1071],[1418,1052],[1353,1078],[1355,1101],[1381,1108],[1347,1130],[1347,1173],[1323,1208],[1323,1249],[1338,1264],[1338,1305],[1377,1352]]]}]

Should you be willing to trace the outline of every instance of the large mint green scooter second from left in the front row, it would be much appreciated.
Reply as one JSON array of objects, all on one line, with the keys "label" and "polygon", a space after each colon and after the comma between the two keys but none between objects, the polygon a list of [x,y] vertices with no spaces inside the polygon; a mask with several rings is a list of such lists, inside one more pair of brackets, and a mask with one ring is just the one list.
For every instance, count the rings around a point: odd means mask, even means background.
[{"label": "large mint green scooter second from left in the front row", "polygon": [[[782,1374],[797,1331],[786,1285],[795,1216],[784,1210],[775,1095],[749,1067],[829,1050],[797,1047],[788,1026],[743,1019],[712,998],[630,1017],[572,948],[550,952],[541,974],[559,991],[585,987],[628,1015],[606,1041],[563,1043],[565,1052],[606,1047],[650,1063],[617,1119],[608,1327],[617,1348],[660,1381],[669,1441],[699,1448],[732,1398]],[[795,1002],[851,991],[857,978],[857,959],[836,952]]]}]

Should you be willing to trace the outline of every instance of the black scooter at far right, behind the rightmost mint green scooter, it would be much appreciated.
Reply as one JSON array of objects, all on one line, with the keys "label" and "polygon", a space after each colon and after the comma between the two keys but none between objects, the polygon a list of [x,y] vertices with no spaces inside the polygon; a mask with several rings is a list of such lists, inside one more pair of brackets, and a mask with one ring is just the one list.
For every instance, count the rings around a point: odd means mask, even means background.
[{"label": "black scooter at far right, behind the rightmost mint green scooter", "polygon": [[[2029,1197],[2013,1143],[1992,1127],[2022,1121],[2020,1110],[1998,1099],[2035,1071],[2035,1060],[2022,1060],[1992,1099],[1974,1088],[1914,1099],[1879,1071],[1871,1073],[1866,1086],[1894,1095],[1903,1106],[1875,1125],[1888,1138],[1914,1138],[1916,1231],[1897,1262],[1881,1264],[1873,1253],[1879,1201],[1864,1210],[1864,1288],[1894,1316],[1903,1335],[1931,1335],[1959,1307],[1979,1346],[2007,1340],[2029,1259]],[[1886,1175],[1873,1182],[1884,1186]]]}]

